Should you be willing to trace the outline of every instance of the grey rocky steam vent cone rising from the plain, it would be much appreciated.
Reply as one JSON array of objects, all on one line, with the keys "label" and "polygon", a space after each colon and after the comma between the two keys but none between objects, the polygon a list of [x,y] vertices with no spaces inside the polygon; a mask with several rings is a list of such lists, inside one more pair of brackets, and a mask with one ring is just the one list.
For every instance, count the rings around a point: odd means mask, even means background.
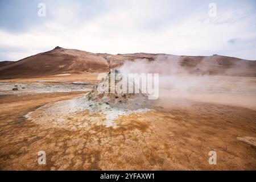
[{"label": "grey rocky steam vent cone rising from the plain", "polygon": [[117,69],[112,69],[109,71],[108,75],[86,95],[88,100],[108,104],[111,107],[130,110],[141,109],[152,104],[152,100],[148,100],[146,94],[141,93],[141,90],[139,90],[139,93],[128,93],[129,86],[135,86],[134,81],[128,82],[127,80],[126,93],[118,92],[117,90],[119,88],[122,89],[122,86],[120,86],[122,78]]}]

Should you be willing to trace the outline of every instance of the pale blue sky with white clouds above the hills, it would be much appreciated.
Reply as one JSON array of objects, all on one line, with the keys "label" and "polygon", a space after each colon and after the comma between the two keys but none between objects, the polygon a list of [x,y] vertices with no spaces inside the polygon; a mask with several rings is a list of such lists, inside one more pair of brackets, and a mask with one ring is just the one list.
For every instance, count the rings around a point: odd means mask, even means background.
[{"label": "pale blue sky with white clouds above the hills", "polygon": [[0,61],[56,46],[256,60],[256,1],[0,0]]}]

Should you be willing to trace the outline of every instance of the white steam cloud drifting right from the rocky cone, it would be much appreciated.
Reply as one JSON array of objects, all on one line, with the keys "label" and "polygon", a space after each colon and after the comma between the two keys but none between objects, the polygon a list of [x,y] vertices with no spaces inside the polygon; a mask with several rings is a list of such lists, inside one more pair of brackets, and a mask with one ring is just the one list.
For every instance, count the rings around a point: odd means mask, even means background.
[{"label": "white steam cloud drifting right from the rocky cone", "polygon": [[[245,106],[256,109],[256,87],[254,77],[236,77],[193,73],[192,69],[182,66],[180,56],[159,56],[154,61],[141,59],[125,61],[121,73],[159,73],[160,100],[177,104],[189,104],[191,101],[214,102]],[[217,63],[217,62],[216,62]],[[212,69],[207,59],[197,64],[194,70],[200,69],[209,73]],[[243,67],[240,61],[223,71],[226,75],[239,73]],[[254,81],[255,82],[255,81]]]}]

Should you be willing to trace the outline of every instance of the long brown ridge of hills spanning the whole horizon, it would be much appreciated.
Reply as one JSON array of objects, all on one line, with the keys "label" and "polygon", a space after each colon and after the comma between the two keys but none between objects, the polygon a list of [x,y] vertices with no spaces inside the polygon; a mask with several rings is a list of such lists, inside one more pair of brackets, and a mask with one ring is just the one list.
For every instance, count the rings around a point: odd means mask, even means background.
[{"label": "long brown ridge of hills spanning the whole horizon", "polygon": [[[48,52],[26,57],[19,61],[0,62],[0,78],[37,77],[61,73],[107,72],[109,68],[121,66],[125,60],[162,59],[178,64],[190,73],[229,76],[256,76],[256,61],[227,56],[175,56],[158,53],[129,53],[110,55],[91,53],[76,49],[56,47]],[[169,63],[168,62],[168,63]],[[161,62],[159,62],[161,64]]]}]

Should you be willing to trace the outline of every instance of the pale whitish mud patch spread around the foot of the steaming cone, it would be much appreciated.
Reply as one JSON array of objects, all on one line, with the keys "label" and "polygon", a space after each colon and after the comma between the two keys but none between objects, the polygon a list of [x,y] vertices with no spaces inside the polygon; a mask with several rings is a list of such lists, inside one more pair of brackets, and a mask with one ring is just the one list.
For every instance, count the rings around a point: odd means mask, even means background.
[{"label": "pale whitish mud patch spread around the foot of the steaming cone", "polygon": [[[88,126],[88,122],[117,128],[115,119],[120,116],[144,113],[150,110],[147,108],[129,110],[111,107],[105,103],[89,101],[86,97],[80,97],[44,105],[24,117],[47,128],[61,127],[76,130]],[[81,117],[81,115],[86,117]]]}]

